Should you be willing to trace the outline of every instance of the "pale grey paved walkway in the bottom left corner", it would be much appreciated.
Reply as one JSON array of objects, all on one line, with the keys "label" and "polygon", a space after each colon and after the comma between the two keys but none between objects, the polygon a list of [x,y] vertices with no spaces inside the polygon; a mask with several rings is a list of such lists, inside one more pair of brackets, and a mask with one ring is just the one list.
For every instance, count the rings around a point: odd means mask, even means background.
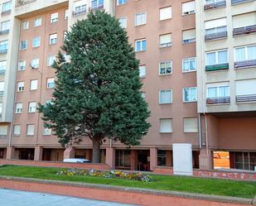
[{"label": "pale grey paved walkway in the bottom left corner", "polygon": [[0,189],[1,206],[135,206],[93,199]]}]

